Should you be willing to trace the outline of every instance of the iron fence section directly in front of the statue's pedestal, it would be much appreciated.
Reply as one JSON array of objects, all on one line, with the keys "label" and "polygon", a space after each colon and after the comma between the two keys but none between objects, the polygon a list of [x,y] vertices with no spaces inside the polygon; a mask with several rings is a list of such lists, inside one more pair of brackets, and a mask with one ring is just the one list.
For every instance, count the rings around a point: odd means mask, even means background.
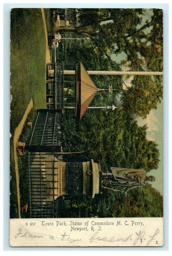
[{"label": "iron fence section directly in front of the statue's pedestal", "polygon": [[[58,162],[50,153],[28,153],[31,218],[54,218],[58,196]],[[55,174],[55,169],[57,174]],[[55,191],[57,193],[55,193]],[[56,209],[57,211],[57,209]]]}]

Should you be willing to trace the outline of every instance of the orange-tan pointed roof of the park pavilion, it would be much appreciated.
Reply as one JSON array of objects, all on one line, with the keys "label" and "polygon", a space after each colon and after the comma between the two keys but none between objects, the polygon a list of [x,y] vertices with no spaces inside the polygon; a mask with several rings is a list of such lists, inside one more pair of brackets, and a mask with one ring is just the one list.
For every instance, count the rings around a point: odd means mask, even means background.
[{"label": "orange-tan pointed roof of the park pavilion", "polygon": [[76,64],[76,117],[82,118],[98,89],[88,75],[83,63]]}]

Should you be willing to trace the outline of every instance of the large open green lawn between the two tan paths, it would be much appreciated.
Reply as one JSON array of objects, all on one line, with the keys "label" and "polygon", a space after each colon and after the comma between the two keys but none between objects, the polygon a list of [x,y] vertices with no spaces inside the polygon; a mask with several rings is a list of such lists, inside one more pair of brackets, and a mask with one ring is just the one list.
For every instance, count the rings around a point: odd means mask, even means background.
[{"label": "large open green lawn between the two tan paths", "polygon": [[31,98],[34,108],[46,108],[45,33],[40,9],[11,11],[11,133]]}]

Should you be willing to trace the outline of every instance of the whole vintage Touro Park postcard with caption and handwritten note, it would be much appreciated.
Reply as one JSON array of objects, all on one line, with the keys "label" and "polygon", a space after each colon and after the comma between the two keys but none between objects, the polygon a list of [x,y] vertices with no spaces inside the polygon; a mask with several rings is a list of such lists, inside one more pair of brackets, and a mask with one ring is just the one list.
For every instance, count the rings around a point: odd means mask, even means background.
[{"label": "whole vintage Touro Park postcard with caption and handwritten note", "polygon": [[10,245],[163,246],[163,9],[12,8]]}]

